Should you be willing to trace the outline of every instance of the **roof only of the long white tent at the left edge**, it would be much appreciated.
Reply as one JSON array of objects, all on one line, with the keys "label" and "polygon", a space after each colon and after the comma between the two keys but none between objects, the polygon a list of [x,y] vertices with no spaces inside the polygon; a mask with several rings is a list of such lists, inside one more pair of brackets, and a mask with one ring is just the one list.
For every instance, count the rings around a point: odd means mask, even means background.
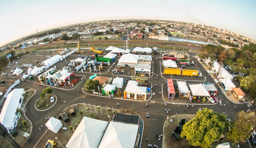
[{"label": "roof only of the long white tent at the left edge", "polygon": [[23,93],[25,93],[23,88],[16,88],[8,94],[5,100],[0,113],[0,122],[7,128],[14,125],[15,112],[17,111],[19,100]]}]

